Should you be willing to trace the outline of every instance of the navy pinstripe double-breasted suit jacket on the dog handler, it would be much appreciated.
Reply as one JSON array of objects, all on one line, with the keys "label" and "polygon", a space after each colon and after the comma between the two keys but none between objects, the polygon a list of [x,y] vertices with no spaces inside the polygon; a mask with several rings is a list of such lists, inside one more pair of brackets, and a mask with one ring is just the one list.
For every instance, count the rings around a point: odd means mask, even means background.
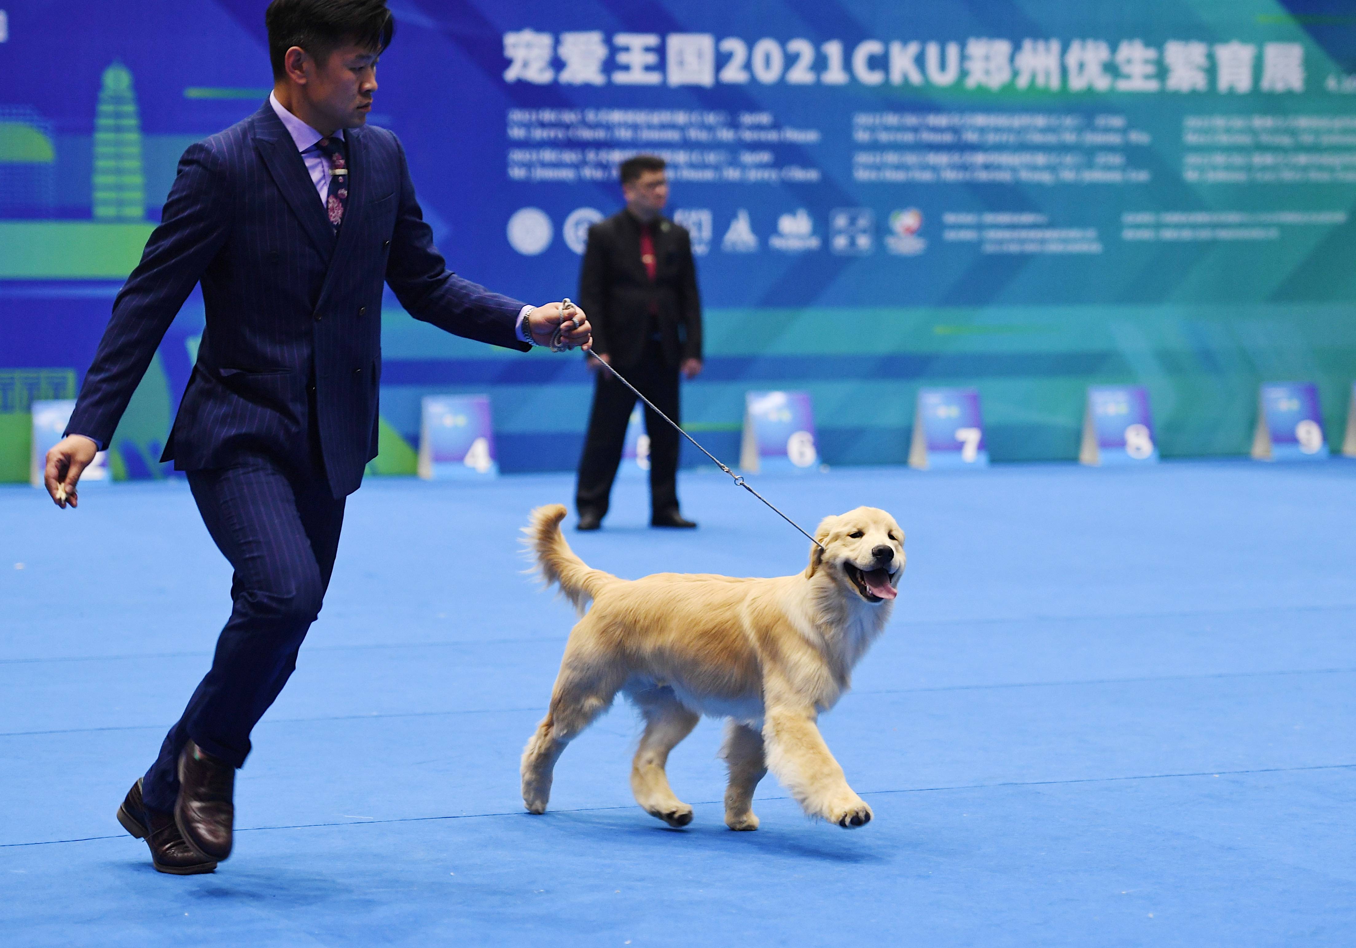
[{"label": "navy pinstripe double-breasted suit jacket on the dog handler", "polygon": [[[526,351],[522,303],[456,276],[433,245],[405,153],[385,129],[350,129],[338,237],[268,103],[191,145],[141,263],[80,387],[68,432],[113,440],[132,393],[199,280],[206,329],[161,460],[228,467],[297,458],[317,425],[335,497],[377,455],[381,284],[418,320]],[[315,385],[316,417],[308,386]]]}]

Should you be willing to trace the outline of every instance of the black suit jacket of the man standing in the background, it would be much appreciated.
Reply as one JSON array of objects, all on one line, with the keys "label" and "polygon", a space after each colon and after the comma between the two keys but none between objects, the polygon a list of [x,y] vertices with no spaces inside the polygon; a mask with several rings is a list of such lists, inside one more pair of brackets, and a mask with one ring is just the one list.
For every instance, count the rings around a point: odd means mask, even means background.
[{"label": "black suit jacket of the man standing in the background", "polygon": [[593,326],[594,351],[624,370],[640,362],[651,326],[664,358],[701,359],[701,297],[687,230],[660,217],[652,225],[655,279],[640,261],[640,221],[622,210],[589,228],[589,246],[579,271],[579,305]]}]

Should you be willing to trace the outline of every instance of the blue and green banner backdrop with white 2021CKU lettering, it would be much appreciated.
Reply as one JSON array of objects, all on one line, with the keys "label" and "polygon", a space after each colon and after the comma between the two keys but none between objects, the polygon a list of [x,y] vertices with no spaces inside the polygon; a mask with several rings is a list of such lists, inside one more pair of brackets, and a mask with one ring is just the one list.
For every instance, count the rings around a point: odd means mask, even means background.
[{"label": "blue and green banner backdrop with white 2021CKU lettering", "polygon": [[[79,376],[183,148],[266,98],[266,3],[0,7],[0,375]],[[979,393],[995,462],[1077,458],[1090,385],[1144,386],[1165,456],[1246,454],[1275,378],[1313,382],[1345,427],[1349,4],[391,7],[370,121],[401,137],[458,272],[575,295],[617,163],[667,160],[706,307],[683,423],[717,454],[738,454],[750,390],[810,393],[830,465],[904,462],[922,387]],[[113,446],[119,477],[163,473],[201,330],[190,301]],[[576,356],[465,343],[391,298],[384,356],[373,471],[412,473],[420,400],[457,393],[490,394],[504,471],[574,466]]]}]

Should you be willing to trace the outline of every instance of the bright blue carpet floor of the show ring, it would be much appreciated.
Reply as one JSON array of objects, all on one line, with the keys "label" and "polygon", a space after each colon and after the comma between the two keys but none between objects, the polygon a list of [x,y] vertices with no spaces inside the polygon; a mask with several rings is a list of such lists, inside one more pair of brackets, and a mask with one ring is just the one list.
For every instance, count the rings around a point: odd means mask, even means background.
[{"label": "bright blue carpet floor of the show ring", "polygon": [[[518,754],[568,608],[519,570],[563,475],[369,481],[237,783],[236,855],[153,872],[114,810],[206,669],[229,570],[182,482],[58,512],[0,489],[5,945],[1351,945],[1356,463],[835,470],[759,478],[807,527],[907,531],[895,619],[823,718],[875,807],[812,823],[773,779],[721,821],[720,733],[632,802],[618,706],[530,817]],[[696,534],[621,483],[590,563],[774,576],[808,543],[720,474]]]}]

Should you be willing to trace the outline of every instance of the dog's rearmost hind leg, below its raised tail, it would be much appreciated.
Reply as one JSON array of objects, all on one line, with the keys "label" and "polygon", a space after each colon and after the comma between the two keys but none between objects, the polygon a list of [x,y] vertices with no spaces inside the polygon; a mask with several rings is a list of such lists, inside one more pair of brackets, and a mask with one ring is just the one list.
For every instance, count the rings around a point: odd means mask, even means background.
[{"label": "dog's rearmost hind leg, below its raised tail", "polygon": [[621,680],[612,674],[599,677],[578,650],[565,647],[560,674],[551,695],[551,710],[537,725],[522,752],[522,803],[529,813],[545,813],[551,800],[551,781],[556,761],[565,745],[612,707]]}]

